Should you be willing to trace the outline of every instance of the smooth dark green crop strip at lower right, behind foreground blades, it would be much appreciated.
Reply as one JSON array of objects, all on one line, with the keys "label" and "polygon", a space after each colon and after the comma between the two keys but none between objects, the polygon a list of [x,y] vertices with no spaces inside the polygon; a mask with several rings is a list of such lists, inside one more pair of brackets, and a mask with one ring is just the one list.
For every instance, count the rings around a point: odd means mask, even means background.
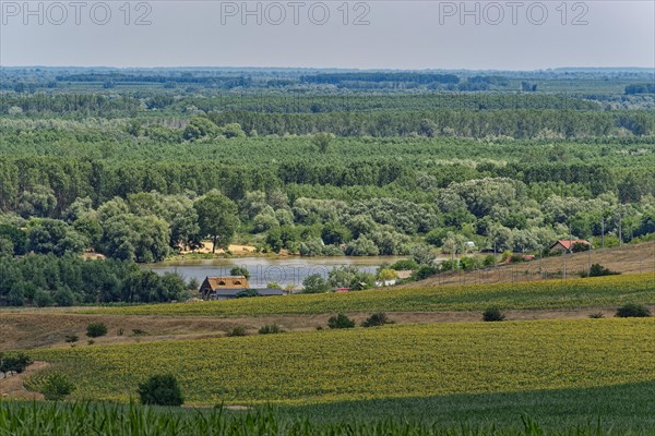
[{"label": "smooth dark green crop strip at lower right, behind foreground blades", "polygon": [[521,416],[527,414],[547,429],[584,427],[584,424],[600,421],[605,429],[631,429],[642,434],[655,428],[654,409],[655,380],[582,389],[342,401],[281,407],[278,413],[290,417],[311,416],[317,423],[380,421],[396,416],[445,426],[520,425]]}]

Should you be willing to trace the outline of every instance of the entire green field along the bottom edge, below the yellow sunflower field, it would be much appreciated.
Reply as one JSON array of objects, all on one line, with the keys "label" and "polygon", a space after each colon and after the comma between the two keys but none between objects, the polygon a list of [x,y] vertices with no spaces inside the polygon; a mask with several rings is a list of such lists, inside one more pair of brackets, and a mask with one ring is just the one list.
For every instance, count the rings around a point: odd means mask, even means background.
[{"label": "entire green field along the bottom edge, below the yellow sunflower field", "polygon": [[[0,400],[0,432],[12,436],[544,436],[648,434],[655,384],[520,395],[449,396],[310,408],[176,411],[111,403]],[[631,400],[628,405],[622,400]],[[479,405],[472,408],[472,401]],[[592,419],[591,408],[603,411]],[[538,414],[538,419],[534,413]]]}]

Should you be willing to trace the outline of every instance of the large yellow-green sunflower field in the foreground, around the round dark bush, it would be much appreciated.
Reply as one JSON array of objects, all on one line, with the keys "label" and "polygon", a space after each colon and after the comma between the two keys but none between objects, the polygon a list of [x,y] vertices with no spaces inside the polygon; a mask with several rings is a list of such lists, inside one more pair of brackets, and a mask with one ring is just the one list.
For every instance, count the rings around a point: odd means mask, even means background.
[{"label": "large yellow-green sunflower field in the foreground, around the round dark bush", "polygon": [[309,404],[655,380],[655,320],[391,325],[29,352],[79,399],[128,401],[172,373],[189,402]]}]

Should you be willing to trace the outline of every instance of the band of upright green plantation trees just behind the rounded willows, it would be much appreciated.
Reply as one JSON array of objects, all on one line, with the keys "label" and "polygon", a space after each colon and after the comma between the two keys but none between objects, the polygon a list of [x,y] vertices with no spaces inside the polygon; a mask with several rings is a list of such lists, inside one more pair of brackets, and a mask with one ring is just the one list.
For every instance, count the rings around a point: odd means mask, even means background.
[{"label": "band of upright green plantation trees just behind the rounded willows", "polygon": [[116,164],[88,158],[0,157],[0,210],[59,217],[79,197],[90,197],[98,205],[115,196],[126,198],[139,192],[204,194],[219,189],[229,198],[239,201],[250,191],[287,185],[359,186],[365,197],[366,186],[371,186],[376,196],[398,196],[398,189],[430,192],[453,182],[485,177],[509,177],[528,185],[563,182],[584,186],[587,195],[615,192],[621,201],[633,202],[647,194],[655,195],[653,175],[647,167],[626,172],[582,162],[481,164],[477,169],[442,165],[416,170],[391,159],[329,165],[294,158],[267,166],[217,166],[212,161]]}]

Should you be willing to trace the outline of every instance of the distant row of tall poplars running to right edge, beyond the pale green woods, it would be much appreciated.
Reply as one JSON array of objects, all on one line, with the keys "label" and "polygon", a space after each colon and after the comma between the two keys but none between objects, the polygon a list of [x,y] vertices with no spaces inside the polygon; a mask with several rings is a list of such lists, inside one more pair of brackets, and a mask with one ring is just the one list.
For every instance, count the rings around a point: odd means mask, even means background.
[{"label": "distant row of tall poplars running to right edge, beyond the pale green woods", "polygon": [[213,112],[217,125],[239,123],[257,134],[311,134],[337,136],[463,136],[483,138],[568,138],[606,136],[617,129],[634,135],[655,132],[651,111],[587,112],[560,110],[491,110],[426,112],[260,113]]}]

